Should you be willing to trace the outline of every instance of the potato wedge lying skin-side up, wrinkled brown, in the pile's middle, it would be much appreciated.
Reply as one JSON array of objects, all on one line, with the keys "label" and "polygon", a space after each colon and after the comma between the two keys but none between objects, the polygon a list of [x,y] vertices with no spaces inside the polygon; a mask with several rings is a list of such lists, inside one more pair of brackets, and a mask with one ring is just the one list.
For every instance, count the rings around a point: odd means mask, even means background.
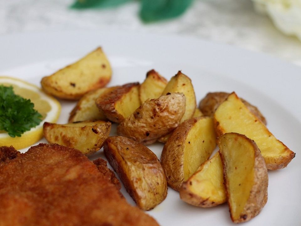
[{"label": "potato wedge lying skin-side up, wrinkled brown, in the pile's middle", "polygon": [[185,112],[186,98],[182,93],[162,95],[147,100],[117,127],[117,134],[138,143],[151,144],[173,131]]}]

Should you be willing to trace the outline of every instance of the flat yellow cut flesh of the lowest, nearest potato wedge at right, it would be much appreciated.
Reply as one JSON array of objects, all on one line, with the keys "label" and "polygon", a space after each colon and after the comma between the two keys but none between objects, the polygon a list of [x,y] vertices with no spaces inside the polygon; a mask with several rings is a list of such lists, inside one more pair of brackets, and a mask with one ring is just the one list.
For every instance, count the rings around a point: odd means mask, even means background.
[{"label": "flat yellow cut flesh of the lowest, nearest potato wedge at right", "polygon": [[[222,140],[223,141],[223,140]],[[223,152],[226,177],[229,181],[229,201],[234,219],[240,218],[254,184],[254,148],[244,138],[228,138],[220,143]]]}]

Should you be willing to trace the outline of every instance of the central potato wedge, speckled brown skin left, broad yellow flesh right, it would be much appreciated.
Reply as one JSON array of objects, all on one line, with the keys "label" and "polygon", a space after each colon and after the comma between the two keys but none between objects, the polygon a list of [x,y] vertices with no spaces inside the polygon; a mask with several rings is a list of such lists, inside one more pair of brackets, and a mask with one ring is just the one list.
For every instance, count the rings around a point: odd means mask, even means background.
[{"label": "central potato wedge, speckled brown skin left, broad yellow flesh right", "polygon": [[161,165],[167,184],[179,191],[216,146],[213,119],[199,117],[184,121],[164,145]]}]

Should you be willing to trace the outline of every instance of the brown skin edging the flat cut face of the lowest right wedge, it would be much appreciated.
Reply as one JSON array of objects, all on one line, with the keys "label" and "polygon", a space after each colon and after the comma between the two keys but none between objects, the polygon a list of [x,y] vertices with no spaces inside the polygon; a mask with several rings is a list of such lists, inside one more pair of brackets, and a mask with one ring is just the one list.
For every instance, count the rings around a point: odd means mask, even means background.
[{"label": "brown skin edging the flat cut face of the lowest right wedge", "polygon": [[246,142],[252,143],[252,146],[254,148],[254,155],[255,155],[255,162],[254,162],[254,185],[251,189],[250,196],[246,202],[246,205],[244,207],[243,213],[241,213],[239,219],[234,219],[232,216],[232,207],[229,202],[229,179],[227,177],[227,172],[226,168],[227,166],[225,165],[225,156],[223,152],[220,150],[219,155],[222,160],[223,164],[223,174],[224,174],[224,183],[226,187],[226,196],[228,198],[228,205],[230,208],[230,215],[231,219],[234,223],[241,223],[241,222],[246,222],[257,216],[260,212],[261,209],[265,206],[267,203],[267,186],[268,186],[268,175],[267,175],[267,167],[264,158],[262,157],[260,150],[258,149],[256,143],[246,137],[245,135],[239,134],[239,133],[225,133],[224,135],[219,137],[219,147],[222,145],[222,140],[229,139],[229,135],[235,135],[242,137],[246,140]]}]

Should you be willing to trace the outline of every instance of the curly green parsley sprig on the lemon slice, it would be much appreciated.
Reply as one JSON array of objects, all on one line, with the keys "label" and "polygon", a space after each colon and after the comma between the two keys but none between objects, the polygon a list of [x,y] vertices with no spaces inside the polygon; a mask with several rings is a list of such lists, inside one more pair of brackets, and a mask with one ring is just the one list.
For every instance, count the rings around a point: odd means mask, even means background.
[{"label": "curly green parsley sprig on the lemon slice", "polygon": [[25,131],[40,124],[42,115],[34,103],[16,95],[13,87],[0,85],[0,130],[11,137],[21,137]]}]

